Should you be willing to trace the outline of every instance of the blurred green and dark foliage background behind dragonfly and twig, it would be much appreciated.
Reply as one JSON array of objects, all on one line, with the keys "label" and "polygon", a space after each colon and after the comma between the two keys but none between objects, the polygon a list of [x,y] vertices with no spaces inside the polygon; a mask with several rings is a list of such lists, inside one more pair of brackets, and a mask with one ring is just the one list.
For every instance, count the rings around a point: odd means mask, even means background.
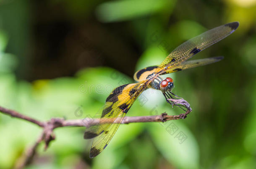
[{"label": "blurred green and dark foliage background behind dragonfly and twig", "polygon": [[[0,106],[39,120],[94,116],[135,71],[233,21],[238,30],[192,58],[224,60],[170,75],[193,109],[187,119],[123,124],[94,159],[84,127],[58,128],[27,169],[255,168],[256,0],[0,0]],[[161,93],[143,96],[128,116],[183,112]],[[13,168],[41,131],[0,114],[0,168]]]}]

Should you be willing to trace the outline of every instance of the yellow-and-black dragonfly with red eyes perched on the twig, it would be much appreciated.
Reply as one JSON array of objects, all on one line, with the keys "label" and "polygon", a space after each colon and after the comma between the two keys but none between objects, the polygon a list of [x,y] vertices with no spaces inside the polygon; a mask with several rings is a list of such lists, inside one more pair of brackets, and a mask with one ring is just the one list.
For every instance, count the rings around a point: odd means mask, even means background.
[{"label": "yellow-and-black dragonfly with red eyes perched on the twig", "polygon": [[86,128],[84,132],[84,139],[94,138],[89,157],[94,158],[107,147],[136,98],[146,89],[154,88],[162,91],[167,103],[171,103],[168,98],[174,95],[171,92],[174,88],[173,79],[170,77],[163,79],[160,77],[161,75],[222,60],[223,57],[212,57],[187,61],[193,55],[233,33],[238,26],[238,22],[227,23],[182,43],[172,50],[159,66],[149,66],[137,71],[133,78],[138,83],[125,84],[115,88],[97,115],[99,123]]}]

